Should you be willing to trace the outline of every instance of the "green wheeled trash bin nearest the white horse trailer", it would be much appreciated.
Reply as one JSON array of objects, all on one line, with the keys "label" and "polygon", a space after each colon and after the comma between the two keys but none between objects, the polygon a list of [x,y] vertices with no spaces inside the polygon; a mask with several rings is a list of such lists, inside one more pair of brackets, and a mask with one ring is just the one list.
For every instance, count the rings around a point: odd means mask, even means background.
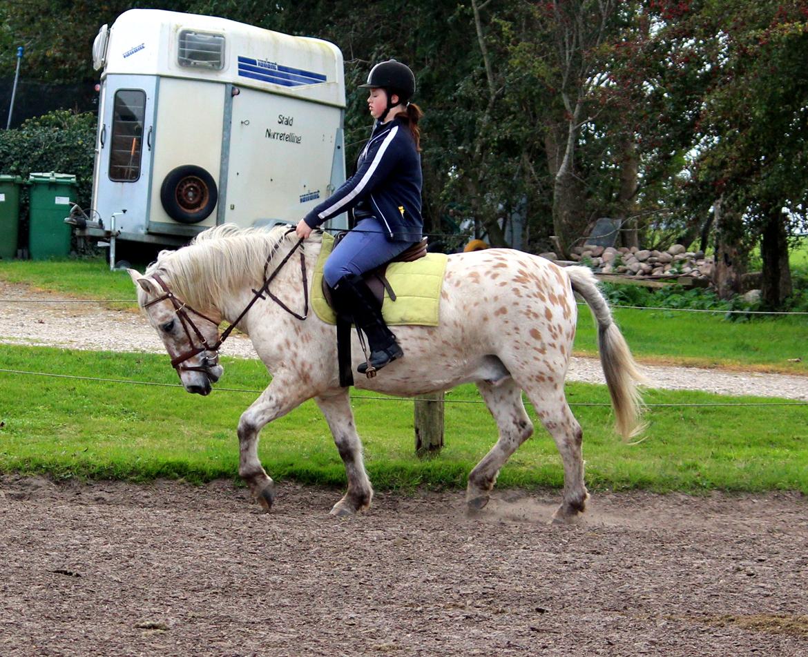
[{"label": "green wheeled trash bin nearest the white horse trailer", "polygon": [[76,177],[70,174],[31,174],[28,254],[32,260],[66,257],[70,253],[70,203],[76,199]]}]

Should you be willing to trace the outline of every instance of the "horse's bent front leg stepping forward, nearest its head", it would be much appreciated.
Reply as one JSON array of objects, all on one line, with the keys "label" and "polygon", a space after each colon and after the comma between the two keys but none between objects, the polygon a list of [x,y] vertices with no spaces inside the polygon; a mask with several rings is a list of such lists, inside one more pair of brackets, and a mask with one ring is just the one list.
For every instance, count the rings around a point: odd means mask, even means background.
[{"label": "horse's bent front leg stepping forward, nearest its head", "polygon": [[268,423],[286,415],[309,398],[299,392],[295,394],[293,389],[290,382],[284,383],[276,375],[238,421],[238,475],[246,481],[255,500],[267,511],[275,500],[275,483],[258,458],[259,433]]}]

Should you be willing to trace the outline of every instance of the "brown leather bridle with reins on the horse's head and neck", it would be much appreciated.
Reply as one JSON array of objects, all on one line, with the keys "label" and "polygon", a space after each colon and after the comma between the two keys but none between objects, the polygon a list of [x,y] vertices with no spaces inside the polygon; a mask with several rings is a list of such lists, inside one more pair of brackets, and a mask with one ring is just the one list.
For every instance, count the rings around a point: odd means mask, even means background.
[{"label": "brown leather bridle with reins on the horse's head and neck", "polygon": [[[293,232],[294,228],[289,229],[287,232],[284,233],[284,237],[287,236],[290,232]],[[271,252],[267,256],[267,262],[264,263],[263,266],[263,285],[258,290],[253,290],[253,298],[250,299],[250,303],[247,303],[244,310],[242,310],[241,314],[236,318],[236,320],[230,324],[227,329],[225,329],[224,333],[217,338],[217,341],[210,345],[208,344],[207,339],[204,337],[202,332],[200,331],[199,327],[194,323],[194,320],[188,314],[189,312],[193,313],[194,315],[201,317],[203,320],[206,320],[216,326],[218,328],[221,322],[217,322],[216,320],[212,320],[210,317],[203,315],[198,310],[191,308],[187,303],[184,303],[182,300],[178,299],[174,292],[170,291],[170,288],[166,285],[166,282],[160,277],[160,274],[151,274],[151,277],[154,278],[155,281],[158,282],[158,285],[162,287],[163,295],[159,296],[157,299],[152,299],[149,303],[144,303],[143,308],[149,308],[149,306],[153,306],[155,303],[160,303],[161,301],[170,301],[171,304],[174,306],[174,311],[176,316],[179,318],[179,322],[185,331],[185,335],[188,338],[188,345],[189,349],[171,358],[171,366],[177,370],[177,374],[182,376],[183,371],[186,372],[202,372],[204,375],[208,376],[210,379],[210,372],[209,369],[213,366],[217,366],[219,364],[219,349],[221,349],[221,345],[224,343],[225,340],[229,337],[230,333],[233,332],[233,329],[236,328],[238,323],[244,318],[247,312],[250,312],[250,308],[252,308],[255,303],[259,299],[266,299],[264,295],[267,295],[270,299],[275,301],[280,308],[283,308],[284,311],[288,312],[291,316],[295,317],[298,320],[305,320],[305,318],[309,315],[309,287],[308,287],[308,279],[306,278],[306,271],[305,271],[305,253],[303,253],[303,239],[297,241],[297,244],[292,246],[292,249],[289,249],[289,252],[286,254],[284,259],[276,266],[275,270],[272,271],[269,276],[267,276],[267,267],[271,262],[272,257],[276,254],[277,250],[280,247],[280,242],[283,241],[283,237],[277,241],[276,245],[273,246]],[[292,309],[288,308],[288,306],[278,299],[276,295],[273,295],[269,291],[269,284],[272,280],[278,275],[280,270],[286,264],[288,259],[292,257],[292,253],[297,251],[300,248],[300,255],[301,255],[301,277],[303,279],[303,314],[298,315],[297,312],[294,312]],[[199,344],[197,345],[194,342],[194,335],[196,335]],[[213,353],[213,357],[205,356],[203,360],[203,364],[201,366],[188,366],[184,363],[193,358],[198,354],[202,354],[203,352],[210,352]],[[170,355],[170,354],[169,354]]]}]

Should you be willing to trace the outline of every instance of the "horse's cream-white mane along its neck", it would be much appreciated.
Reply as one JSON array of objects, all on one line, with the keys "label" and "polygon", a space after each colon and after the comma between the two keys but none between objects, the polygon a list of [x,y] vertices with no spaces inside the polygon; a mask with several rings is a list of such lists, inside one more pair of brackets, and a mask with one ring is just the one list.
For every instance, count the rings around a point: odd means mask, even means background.
[{"label": "horse's cream-white mane along its neck", "polygon": [[[317,243],[319,248],[321,241],[322,233],[315,231],[305,245]],[[273,262],[280,262],[278,257],[296,242],[284,224],[269,229],[222,224],[200,232],[182,249],[161,251],[145,275],[165,274],[175,295],[191,307],[204,308],[245,282],[259,286],[270,253],[275,253]]]}]

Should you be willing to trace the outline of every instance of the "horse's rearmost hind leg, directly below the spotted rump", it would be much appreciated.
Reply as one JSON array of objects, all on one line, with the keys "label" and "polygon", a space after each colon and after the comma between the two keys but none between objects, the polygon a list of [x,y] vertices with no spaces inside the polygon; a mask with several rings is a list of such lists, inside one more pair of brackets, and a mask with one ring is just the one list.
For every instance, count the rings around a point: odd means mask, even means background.
[{"label": "horse's rearmost hind leg, directly below the spotted rump", "polygon": [[583,483],[583,454],[581,425],[570,411],[564,395],[564,382],[553,388],[552,382],[542,384],[541,390],[526,390],[541,424],[553,437],[564,464],[564,493],[562,504],[553,513],[553,522],[568,522],[583,513],[589,493]]}]

